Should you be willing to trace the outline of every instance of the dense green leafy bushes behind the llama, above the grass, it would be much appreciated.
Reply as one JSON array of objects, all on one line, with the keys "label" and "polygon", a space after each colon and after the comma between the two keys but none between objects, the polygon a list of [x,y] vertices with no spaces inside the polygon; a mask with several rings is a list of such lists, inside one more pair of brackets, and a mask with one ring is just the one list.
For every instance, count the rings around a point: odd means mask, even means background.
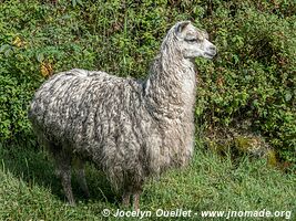
[{"label": "dense green leafy bushes behind the llama, above the grass", "polygon": [[31,134],[29,101],[53,72],[144,77],[166,30],[186,19],[218,48],[214,62],[196,60],[197,123],[210,129],[248,120],[295,161],[295,1],[11,0],[0,11],[1,141]]}]

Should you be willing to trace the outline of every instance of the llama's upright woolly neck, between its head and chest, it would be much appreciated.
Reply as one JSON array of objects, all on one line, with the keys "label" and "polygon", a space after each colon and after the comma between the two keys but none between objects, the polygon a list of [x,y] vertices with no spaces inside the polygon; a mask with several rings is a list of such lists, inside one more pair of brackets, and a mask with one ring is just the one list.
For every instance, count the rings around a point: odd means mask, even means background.
[{"label": "llama's upright woolly neck, between its head and chest", "polygon": [[160,54],[145,83],[145,95],[160,117],[175,118],[193,112],[196,78],[194,64],[177,55]]}]

